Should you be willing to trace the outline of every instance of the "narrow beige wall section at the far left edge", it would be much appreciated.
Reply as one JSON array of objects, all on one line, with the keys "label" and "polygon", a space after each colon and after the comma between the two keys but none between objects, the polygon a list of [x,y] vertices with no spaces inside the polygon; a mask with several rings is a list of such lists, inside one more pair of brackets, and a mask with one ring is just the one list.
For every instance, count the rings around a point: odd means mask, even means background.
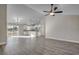
[{"label": "narrow beige wall section at the far left edge", "polygon": [[5,44],[7,40],[6,8],[6,5],[0,4],[0,45]]}]

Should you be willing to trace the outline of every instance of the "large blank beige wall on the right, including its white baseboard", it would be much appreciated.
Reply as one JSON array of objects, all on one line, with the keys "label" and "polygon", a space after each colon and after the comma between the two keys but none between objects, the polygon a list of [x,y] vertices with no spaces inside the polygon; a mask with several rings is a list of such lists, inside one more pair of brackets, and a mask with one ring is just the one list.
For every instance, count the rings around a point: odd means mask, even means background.
[{"label": "large blank beige wall on the right, including its white baseboard", "polygon": [[79,16],[47,16],[46,38],[79,43]]}]

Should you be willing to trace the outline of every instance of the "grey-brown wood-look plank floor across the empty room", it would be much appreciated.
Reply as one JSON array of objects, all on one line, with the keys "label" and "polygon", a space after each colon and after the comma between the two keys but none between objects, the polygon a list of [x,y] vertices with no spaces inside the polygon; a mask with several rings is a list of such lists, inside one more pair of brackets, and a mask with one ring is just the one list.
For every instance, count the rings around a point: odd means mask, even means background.
[{"label": "grey-brown wood-look plank floor across the empty room", "polygon": [[78,55],[79,44],[53,39],[9,38],[1,55]]}]

